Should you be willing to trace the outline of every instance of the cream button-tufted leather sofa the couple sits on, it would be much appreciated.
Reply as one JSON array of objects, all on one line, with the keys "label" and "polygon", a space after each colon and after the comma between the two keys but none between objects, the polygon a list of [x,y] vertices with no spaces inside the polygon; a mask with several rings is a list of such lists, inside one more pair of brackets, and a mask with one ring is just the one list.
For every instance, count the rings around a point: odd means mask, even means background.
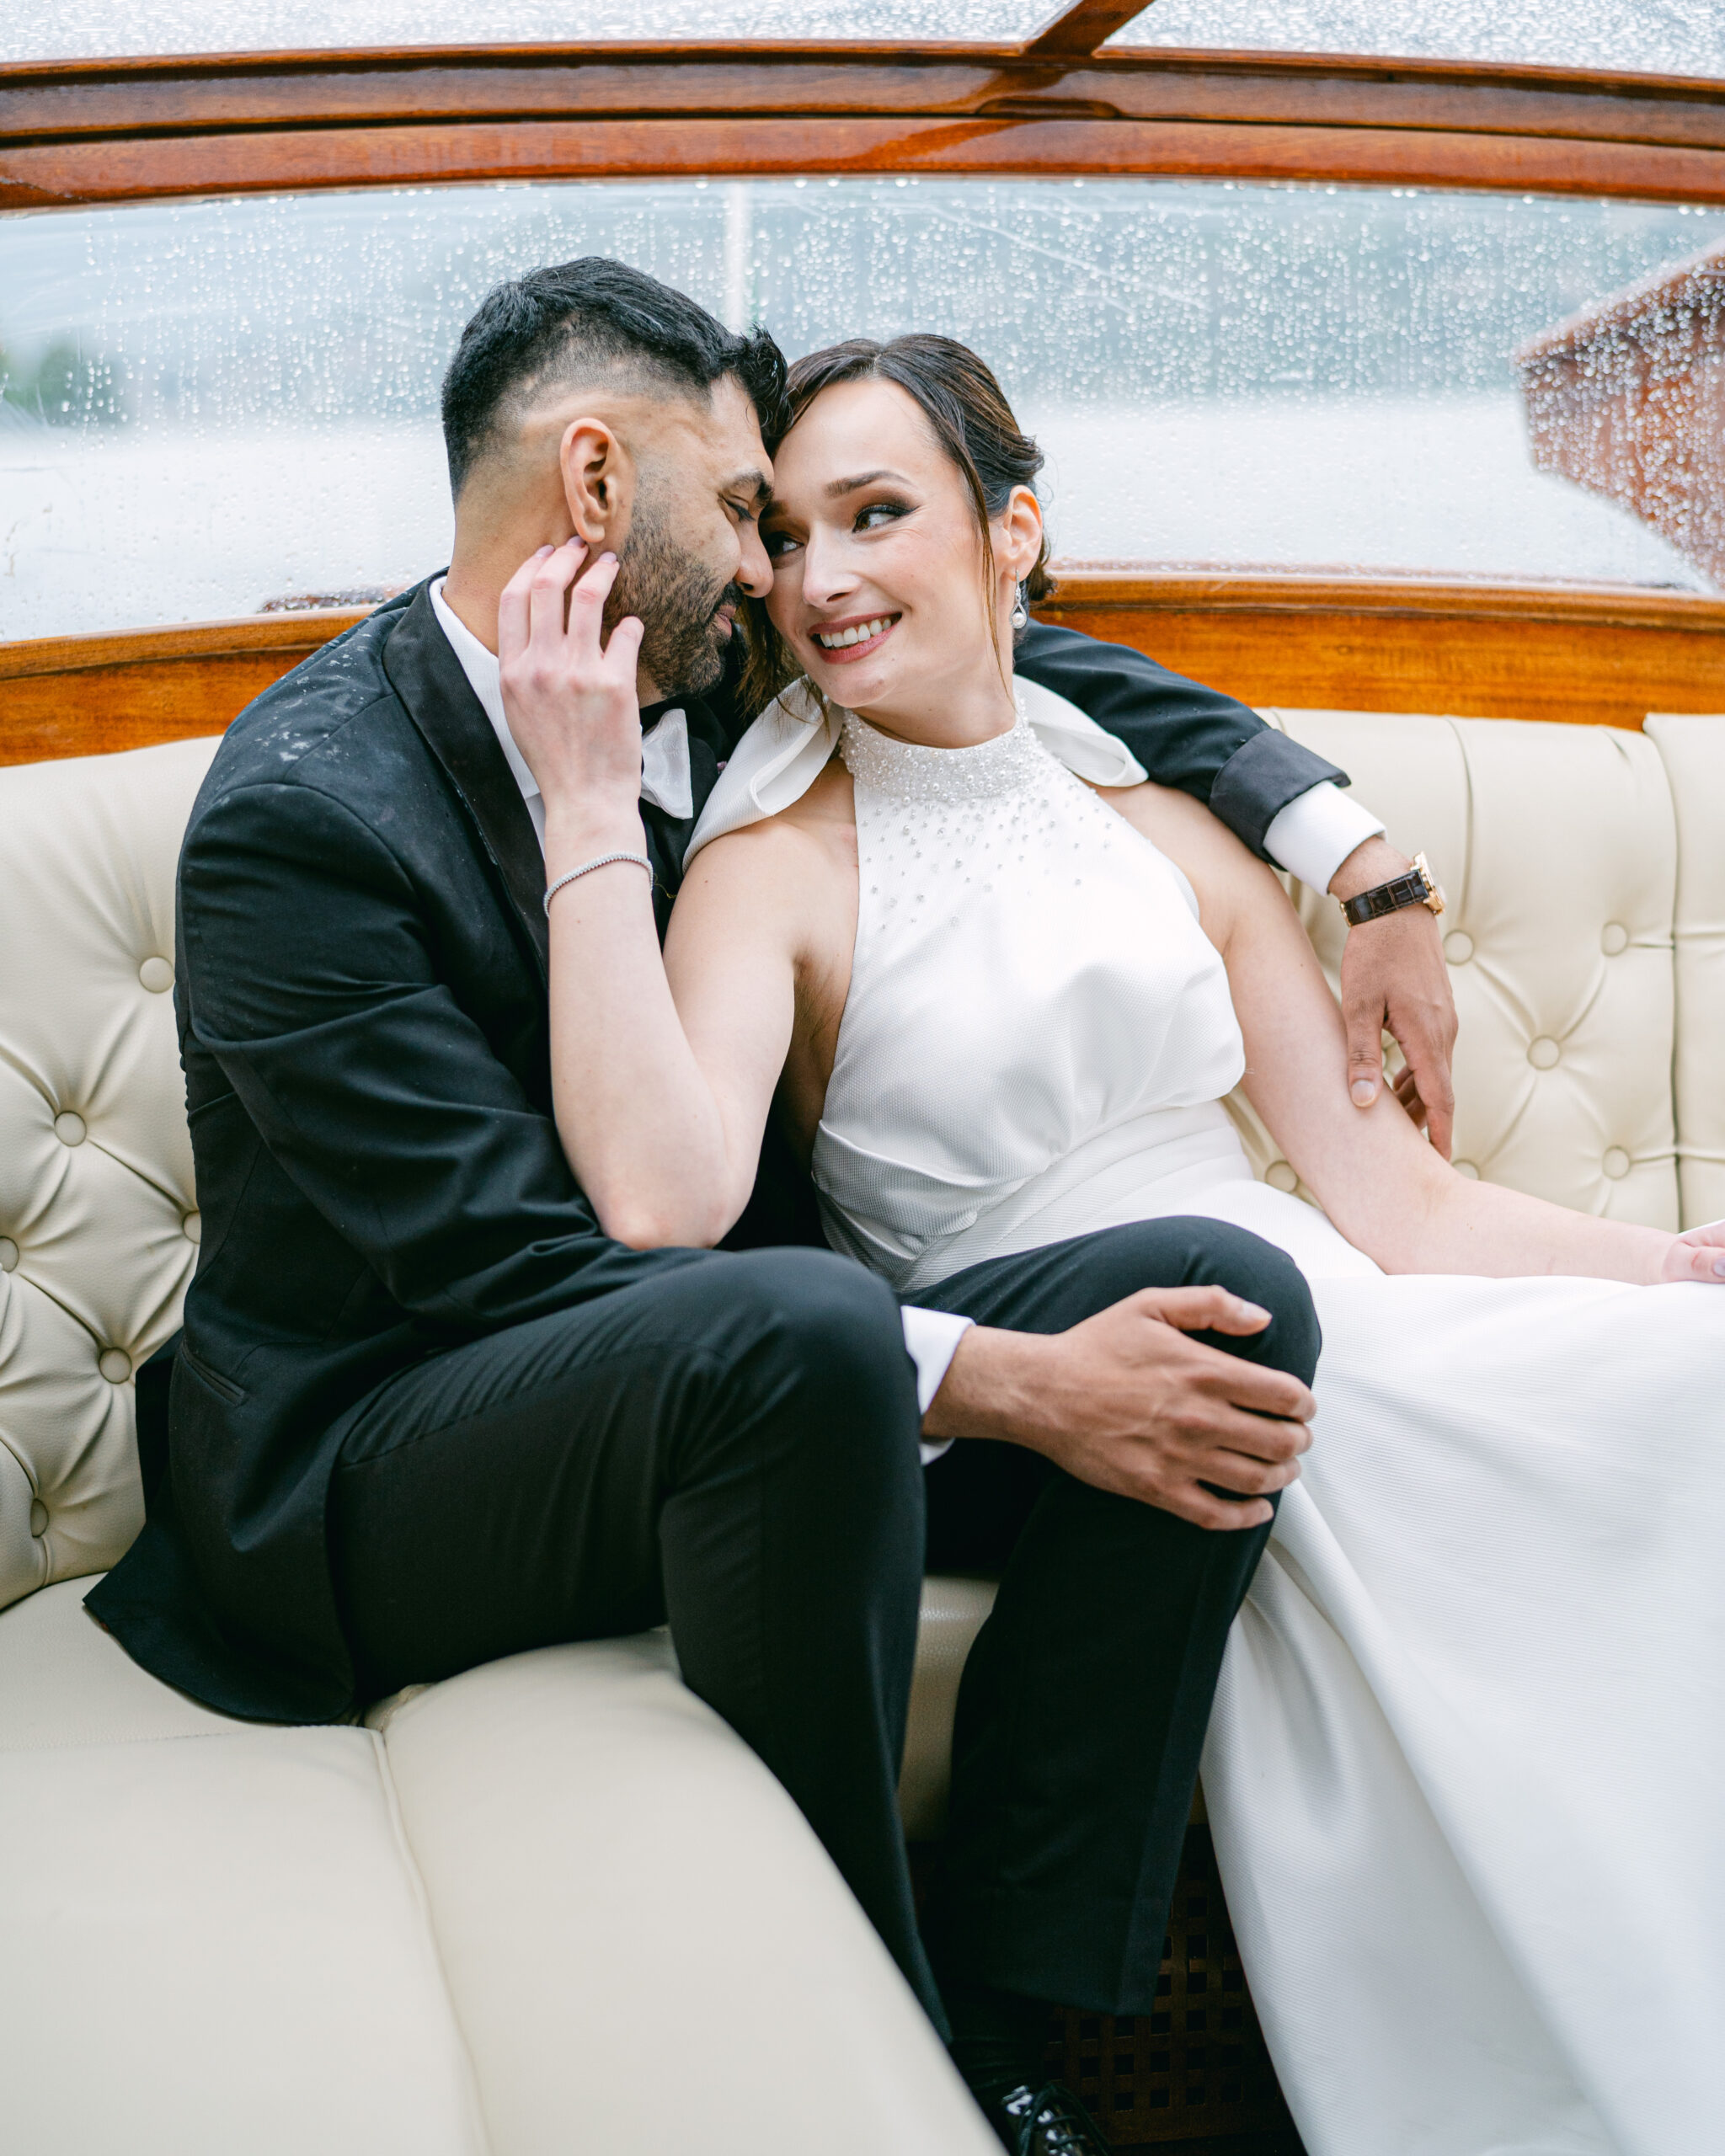
[{"label": "cream button-tufted leather sofa the couple sits on", "polygon": [[[1725,718],[1266,716],[1449,893],[1458,1158],[1615,1218],[1725,1214]],[[4,2145],[983,2156],[826,1856],[662,1634],[259,1729],[82,1613],[140,1524],[132,1373],[196,1255],[170,910],[211,752],[0,772]],[[1335,968],[1335,906],[1296,897]],[[925,1595],[912,1837],[940,1830],[988,1602]]]}]

